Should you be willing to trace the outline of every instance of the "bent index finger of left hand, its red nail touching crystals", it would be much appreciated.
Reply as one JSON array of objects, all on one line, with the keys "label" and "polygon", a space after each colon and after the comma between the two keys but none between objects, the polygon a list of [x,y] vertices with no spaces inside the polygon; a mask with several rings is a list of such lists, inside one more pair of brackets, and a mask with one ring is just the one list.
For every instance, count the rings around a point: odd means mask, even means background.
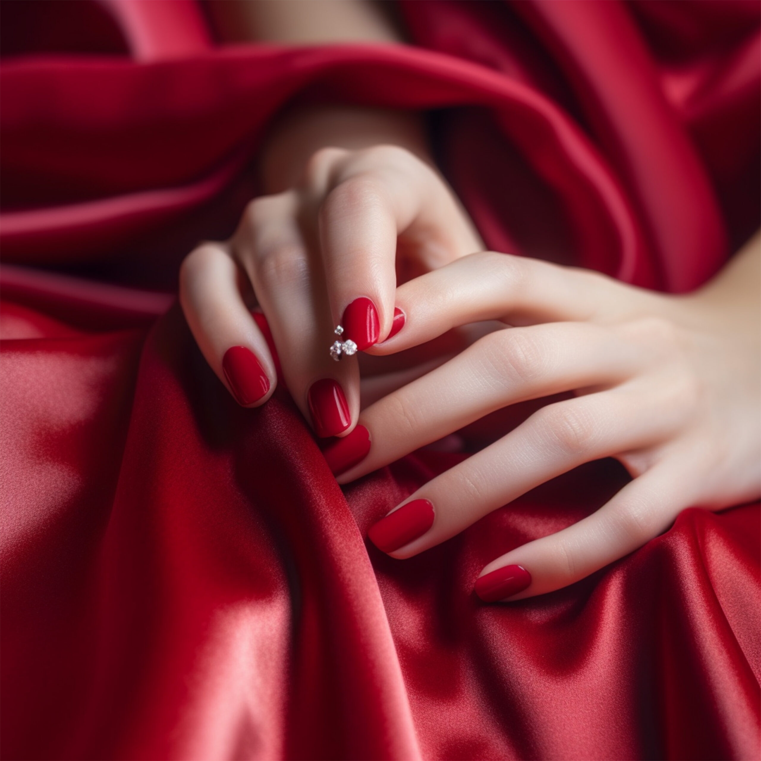
[{"label": "bent index finger of left hand, its red nail touching crystals", "polygon": [[[396,257],[425,269],[479,246],[443,180],[394,146],[351,154],[320,177],[330,191],[320,209],[320,250],[333,320],[357,351],[398,332]],[[353,348],[353,347],[352,347]]]}]

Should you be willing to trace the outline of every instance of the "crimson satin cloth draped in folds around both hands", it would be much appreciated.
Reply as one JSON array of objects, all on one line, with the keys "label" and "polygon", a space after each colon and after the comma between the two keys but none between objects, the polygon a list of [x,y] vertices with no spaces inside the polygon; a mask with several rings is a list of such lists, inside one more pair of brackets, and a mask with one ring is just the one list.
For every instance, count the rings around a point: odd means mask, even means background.
[{"label": "crimson satin cloth draped in folds around both hands", "polygon": [[482,566],[616,462],[390,559],[368,526],[463,455],[340,489],[161,292],[295,98],[428,112],[496,250],[677,292],[758,227],[757,2],[400,9],[416,46],[282,49],[215,46],[189,0],[2,3],[4,758],[758,757],[756,505],[481,604]]}]

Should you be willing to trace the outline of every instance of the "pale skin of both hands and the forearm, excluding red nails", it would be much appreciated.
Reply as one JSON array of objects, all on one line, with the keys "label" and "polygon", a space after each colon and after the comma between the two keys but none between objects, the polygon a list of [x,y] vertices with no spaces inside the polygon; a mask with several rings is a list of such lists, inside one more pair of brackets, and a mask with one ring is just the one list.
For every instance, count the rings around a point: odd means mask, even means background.
[{"label": "pale skin of both hands and the forearm, excluding red nails", "polygon": [[[215,5],[227,13],[227,3]],[[289,21],[296,5],[299,20]],[[341,12],[349,5],[352,13]],[[240,21],[239,5],[228,8],[237,8],[241,37],[398,39],[369,3],[247,3],[247,21]],[[310,13],[322,21],[310,24]],[[230,23],[231,15],[226,18]],[[333,24],[323,24],[326,18]],[[686,296],[484,251],[432,166],[416,117],[383,111],[285,115],[263,149],[262,172],[269,195],[250,204],[231,240],[189,254],[180,300],[223,384],[221,361],[229,347],[247,346],[259,358],[270,389],[252,406],[269,400],[277,379],[245,303],[251,292],[307,421],[310,384],[323,377],[341,384],[351,412],[342,435],[359,422],[372,443],[340,483],[495,409],[572,393],[409,495],[402,505],[426,498],[435,520],[393,557],[423,552],[534,486],[600,457],[616,457],[632,481],[583,521],[483,569],[482,575],[507,565],[527,568],[530,586],[511,600],[584,578],[666,530],[684,508],[717,511],[761,494],[761,236]],[[397,269],[417,276],[397,285]],[[380,340],[366,353],[389,363],[456,326],[496,320],[498,327],[464,349],[455,346],[454,355],[451,342],[432,355],[421,353],[427,364],[395,376],[387,393],[362,409],[358,361],[336,363],[327,353],[333,327],[358,296],[371,298],[380,316]],[[406,323],[385,341],[394,307]]]}]

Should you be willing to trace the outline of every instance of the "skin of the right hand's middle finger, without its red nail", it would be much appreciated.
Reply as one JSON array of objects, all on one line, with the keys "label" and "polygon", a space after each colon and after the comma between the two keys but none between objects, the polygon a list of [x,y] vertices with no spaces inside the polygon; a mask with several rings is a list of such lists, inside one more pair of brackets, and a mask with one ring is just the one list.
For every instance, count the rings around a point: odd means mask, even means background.
[{"label": "skin of the right hand's middle finger, without its red nail", "polygon": [[[630,377],[635,345],[588,323],[507,328],[479,339],[424,377],[361,413],[369,454],[339,475],[346,483],[443,438],[496,409]],[[348,442],[347,442],[348,444]]]}]

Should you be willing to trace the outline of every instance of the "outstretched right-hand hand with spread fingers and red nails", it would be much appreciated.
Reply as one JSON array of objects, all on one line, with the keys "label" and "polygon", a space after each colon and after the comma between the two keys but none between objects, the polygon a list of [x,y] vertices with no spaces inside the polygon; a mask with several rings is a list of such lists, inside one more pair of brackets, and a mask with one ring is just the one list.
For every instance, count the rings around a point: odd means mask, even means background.
[{"label": "outstretched right-hand hand with spread fingers and red nails", "polygon": [[616,457],[634,479],[607,505],[483,569],[477,594],[517,600],[632,552],[683,508],[718,510],[758,498],[759,250],[756,239],[686,297],[489,252],[401,285],[396,304],[406,324],[379,352],[477,320],[512,327],[365,409],[361,425],[328,451],[334,471],[344,471],[339,482],[501,407],[573,396],[425,484],[371,527],[371,540],[409,558],[554,476]]}]

